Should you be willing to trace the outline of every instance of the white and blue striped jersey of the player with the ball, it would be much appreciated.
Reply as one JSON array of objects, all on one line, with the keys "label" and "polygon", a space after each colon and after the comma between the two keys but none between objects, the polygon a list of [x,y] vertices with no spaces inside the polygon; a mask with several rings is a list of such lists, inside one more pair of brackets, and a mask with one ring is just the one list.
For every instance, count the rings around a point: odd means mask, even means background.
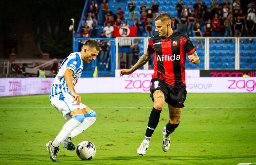
[{"label": "white and blue striped jersey of the player with the ball", "polygon": [[64,78],[64,73],[67,68],[74,72],[73,85],[75,86],[83,70],[83,61],[80,52],[71,53],[60,65],[56,73],[56,77],[51,85],[50,99],[64,92],[71,95]]}]

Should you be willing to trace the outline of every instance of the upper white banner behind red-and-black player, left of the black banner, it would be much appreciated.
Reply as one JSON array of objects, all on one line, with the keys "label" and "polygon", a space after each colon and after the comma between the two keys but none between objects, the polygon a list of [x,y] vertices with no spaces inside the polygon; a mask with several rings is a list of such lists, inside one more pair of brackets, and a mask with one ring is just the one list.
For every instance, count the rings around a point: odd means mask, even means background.
[{"label": "upper white banner behind red-and-black player, left of the black banner", "polygon": [[[116,69],[115,70],[115,77],[120,77],[120,72],[121,69]],[[187,77],[200,77],[200,70],[199,69],[187,69],[185,70],[186,72],[186,78]],[[138,69],[135,72],[133,72],[130,75],[123,75],[123,77],[134,77],[134,78],[151,78],[152,74],[154,73],[154,70],[143,70],[143,69]]]}]

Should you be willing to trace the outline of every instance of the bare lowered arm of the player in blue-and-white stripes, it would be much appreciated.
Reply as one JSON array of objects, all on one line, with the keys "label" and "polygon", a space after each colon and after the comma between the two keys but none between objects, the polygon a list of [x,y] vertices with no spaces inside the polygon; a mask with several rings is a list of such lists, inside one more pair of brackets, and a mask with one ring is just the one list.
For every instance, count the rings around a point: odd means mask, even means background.
[{"label": "bare lowered arm of the player in blue-and-white stripes", "polygon": [[81,96],[79,96],[76,92],[75,92],[75,88],[73,85],[73,71],[71,69],[66,69],[65,73],[64,73],[64,78],[65,81],[67,83],[67,86],[74,98],[74,101],[76,100],[76,104],[80,105],[81,102]]}]

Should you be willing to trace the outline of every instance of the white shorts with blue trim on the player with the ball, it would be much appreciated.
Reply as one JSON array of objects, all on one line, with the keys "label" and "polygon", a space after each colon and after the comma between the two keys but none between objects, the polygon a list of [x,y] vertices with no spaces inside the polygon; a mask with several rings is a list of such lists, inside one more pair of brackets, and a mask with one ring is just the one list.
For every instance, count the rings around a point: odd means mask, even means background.
[{"label": "white shorts with blue trim on the player with the ball", "polygon": [[74,98],[68,93],[61,93],[50,99],[51,104],[58,109],[63,117],[66,120],[71,119],[71,117],[67,114],[71,113],[75,109],[84,109],[87,108],[85,104],[80,103],[80,105],[76,104]]}]

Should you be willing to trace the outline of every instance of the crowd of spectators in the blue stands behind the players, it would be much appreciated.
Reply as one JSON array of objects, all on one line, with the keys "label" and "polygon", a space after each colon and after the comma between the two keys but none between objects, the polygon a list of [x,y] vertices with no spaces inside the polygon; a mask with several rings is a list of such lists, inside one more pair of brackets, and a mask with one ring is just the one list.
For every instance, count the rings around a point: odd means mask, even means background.
[{"label": "crowd of spectators in the blue stands behind the players", "polygon": [[[163,0],[164,1],[164,0]],[[188,0],[187,0],[188,1]],[[147,1],[148,2],[148,1]],[[211,1],[206,5],[205,1],[196,0],[191,5],[183,4],[178,0],[176,5],[169,6],[175,8],[175,14],[172,13],[172,29],[176,32],[183,32],[189,36],[254,36],[255,35],[255,2],[252,1],[247,5],[247,12],[241,9],[240,2],[233,0]],[[168,4],[165,4],[165,10],[161,11],[158,1],[152,1],[151,4],[145,5],[144,1],[139,1],[140,8],[131,0],[127,4],[128,17],[125,17],[124,11],[118,8],[117,13],[113,13],[109,8],[106,0],[100,6],[102,11],[103,22],[99,24],[98,6],[94,1],[90,4],[89,12],[83,29],[82,36],[90,37],[94,35],[98,25],[103,25],[104,29],[100,37],[111,38],[114,27],[122,28],[123,26],[137,27],[136,36],[154,35],[154,18],[161,12],[166,12]]]}]

